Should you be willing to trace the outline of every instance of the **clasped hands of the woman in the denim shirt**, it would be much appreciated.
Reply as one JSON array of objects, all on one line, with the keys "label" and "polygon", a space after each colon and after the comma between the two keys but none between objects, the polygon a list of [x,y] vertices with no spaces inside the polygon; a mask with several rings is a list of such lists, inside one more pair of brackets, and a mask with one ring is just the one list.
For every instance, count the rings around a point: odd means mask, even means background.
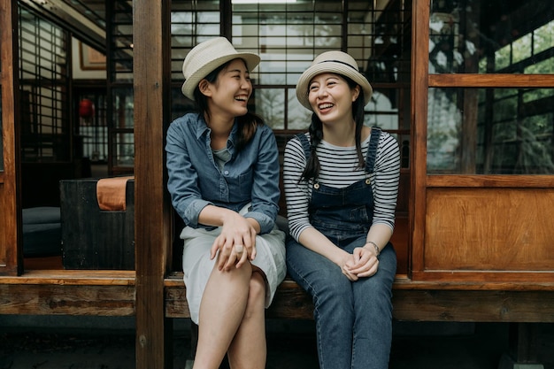
[{"label": "clasped hands of the woman in the denim shirt", "polygon": [[211,258],[218,256],[218,269],[228,271],[232,267],[240,268],[247,260],[254,260],[256,234],[256,229],[242,215],[234,212],[227,217],[211,250]]}]

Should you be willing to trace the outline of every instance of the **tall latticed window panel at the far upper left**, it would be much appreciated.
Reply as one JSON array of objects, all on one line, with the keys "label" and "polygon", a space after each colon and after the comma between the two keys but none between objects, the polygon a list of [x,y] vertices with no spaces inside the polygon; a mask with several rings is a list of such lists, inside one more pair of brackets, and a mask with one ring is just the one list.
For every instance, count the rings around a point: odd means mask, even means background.
[{"label": "tall latticed window panel at the far upper left", "polygon": [[69,36],[50,21],[18,9],[22,160],[69,161]]}]

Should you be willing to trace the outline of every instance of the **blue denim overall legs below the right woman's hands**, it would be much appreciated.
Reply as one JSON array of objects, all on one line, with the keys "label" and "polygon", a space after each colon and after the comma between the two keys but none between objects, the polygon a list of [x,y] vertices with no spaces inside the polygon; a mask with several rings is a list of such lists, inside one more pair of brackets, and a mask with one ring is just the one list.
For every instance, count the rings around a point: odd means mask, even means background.
[{"label": "blue denim overall legs below the right woman's hands", "polygon": [[[344,250],[365,243],[365,235]],[[289,237],[290,276],[312,295],[321,369],[386,369],[392,342],[392,283],[396,253],[389,243],[373,277],[350,281],[329,259]]]}]

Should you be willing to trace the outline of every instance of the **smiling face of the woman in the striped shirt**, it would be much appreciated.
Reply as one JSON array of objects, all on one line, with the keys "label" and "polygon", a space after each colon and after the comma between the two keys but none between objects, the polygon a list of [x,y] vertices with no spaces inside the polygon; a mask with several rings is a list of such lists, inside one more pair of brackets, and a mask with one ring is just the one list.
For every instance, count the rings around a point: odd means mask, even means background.
[{"label": "smiling face of the woman in the striped shirt", "polygon": [[324,124],[352,122],[352,103],[359,86],[350,88],[348,82],[335,73],[321,73],[310,81],[308,100],[312,110]]}]

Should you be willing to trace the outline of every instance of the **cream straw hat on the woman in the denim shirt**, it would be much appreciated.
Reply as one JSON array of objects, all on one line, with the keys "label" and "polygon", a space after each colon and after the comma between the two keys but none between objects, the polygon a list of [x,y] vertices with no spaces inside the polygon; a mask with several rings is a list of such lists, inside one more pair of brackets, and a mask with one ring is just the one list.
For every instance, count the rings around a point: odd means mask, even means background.
[{"label": "cream straw hat on the woman in the denim shirt", "polygon": [[185,82],[181,91],[184,96],[194,100],[194,90],[202,79],[220,65],[235,58],[242,58],[251,72],[258,64],[259,57],[250,52],[238,52],[225,37],[216,37],[198,43],[189,51],[182,65]]}]

